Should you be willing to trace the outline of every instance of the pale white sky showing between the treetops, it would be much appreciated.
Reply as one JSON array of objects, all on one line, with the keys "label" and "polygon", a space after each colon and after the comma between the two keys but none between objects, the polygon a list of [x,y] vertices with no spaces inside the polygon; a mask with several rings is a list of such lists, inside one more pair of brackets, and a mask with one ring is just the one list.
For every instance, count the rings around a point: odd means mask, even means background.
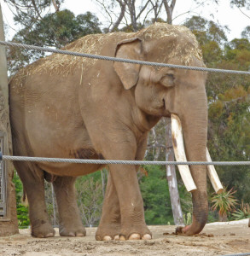
[{"label": "pale white sky showing between the treetops", "polygon": [[[195,0],[177,0],[173,12],[173,24],[179,25],[192,15],[201,15],[207,20],[213,20],[221,26],[228,26],[230,29],[230,32],[227,32],[229,40],[241,38],[243,29],[246,26],[250,26],[250,18],[247,18],[247,16],[250,17],[250,10],[231,8],[230,0],[219,0],[219,4],[207,4],[209,2],[210,1],[207,0],[204,6],[195,9],[197,6]],[[11,26],[11,28],[9,28],[7,39],[11,39],[15,34],[17,27],[13,22],[13,15],[9,11],[6,3],[4,3],[3,0],[0,0],[0,3],[3,11],[3,20]],[[95,1],[93,0],[65,0],[65,3],[61,5],[61,9],[70,9],[75,15],[84,14],[86,11],[90,11],[94,13],[102,22],[102,25],[105,26],[105,17],[102,15],[103,11],[100,7],[96,7],[96,4],[94,3]],[[189,10],[192,10],[192,12],[183,15]],[[241,11],[247,16],[243,15]]]}]

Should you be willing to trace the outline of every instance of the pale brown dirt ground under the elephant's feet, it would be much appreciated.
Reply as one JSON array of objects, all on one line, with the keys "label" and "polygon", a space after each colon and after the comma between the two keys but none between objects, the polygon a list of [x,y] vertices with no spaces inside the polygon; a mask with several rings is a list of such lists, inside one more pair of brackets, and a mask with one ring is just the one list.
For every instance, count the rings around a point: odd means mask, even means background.
[{"label": "pale brown dirt ground under the elephant's feet", "polygon": [[89,255],[225,255],[249,253],[248,220],[206,224],[199,236],[176,236],[175,226],[149,226],[150,241],[96,241],[96,228],[86,237],[33,238],[30,230],[0,237],[1,256],[89,256]]}]

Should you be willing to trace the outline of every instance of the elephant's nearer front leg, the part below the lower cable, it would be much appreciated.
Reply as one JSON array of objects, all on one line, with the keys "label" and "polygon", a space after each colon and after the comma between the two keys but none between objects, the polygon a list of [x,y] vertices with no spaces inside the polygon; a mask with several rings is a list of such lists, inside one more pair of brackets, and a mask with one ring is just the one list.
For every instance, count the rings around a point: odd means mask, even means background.
[{"label": "elephant's nearer front leg, the part below the lower cable", "polygon": [[110,165],[109,168],[119,198],[121,216],[119,239],[151,239],[151,232],[144,219],[136,166]]}]

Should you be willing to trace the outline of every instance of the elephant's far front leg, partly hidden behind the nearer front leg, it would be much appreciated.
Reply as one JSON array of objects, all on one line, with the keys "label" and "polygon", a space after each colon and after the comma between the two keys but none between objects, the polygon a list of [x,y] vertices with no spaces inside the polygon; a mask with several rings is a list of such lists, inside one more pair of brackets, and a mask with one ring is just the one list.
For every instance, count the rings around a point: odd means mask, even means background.
[{"label": "elephant's far front leg, partly hidden behind the nearer front leg", "polygon": [[119,240],[120,234],[119,199],[113,184],[113,179],[108,174],[108,184],[102,207],[102,218],[96,231],[96,240]]}]

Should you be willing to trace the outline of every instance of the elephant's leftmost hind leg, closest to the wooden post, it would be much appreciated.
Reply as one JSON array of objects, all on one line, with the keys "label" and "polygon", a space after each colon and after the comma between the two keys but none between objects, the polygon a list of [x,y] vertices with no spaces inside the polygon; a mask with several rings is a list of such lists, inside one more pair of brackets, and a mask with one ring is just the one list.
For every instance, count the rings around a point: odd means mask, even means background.
[{"label": "elephant's leftmost hind leg, closest to the wooden post", "polygon": [[32,225],[32,236],[55,236],[55,230],[49,223],[44,197],[44,172],[35,164],[15,162],[15,168],[23,183],[29,202],[29,217]]}]

